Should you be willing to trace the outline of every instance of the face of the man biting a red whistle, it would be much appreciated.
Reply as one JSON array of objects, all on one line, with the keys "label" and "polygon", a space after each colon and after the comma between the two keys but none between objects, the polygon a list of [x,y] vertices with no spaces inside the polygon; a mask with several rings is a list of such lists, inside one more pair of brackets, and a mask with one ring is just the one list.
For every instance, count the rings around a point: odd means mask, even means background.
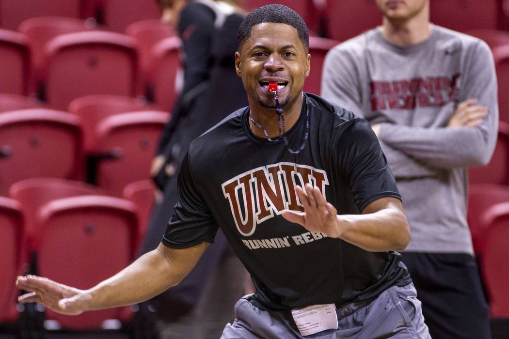
[{"label": "face of the man biting a red whistle", "polygon": [[252,106],[274,108],[269,82],[277,82],[279,104],[295,103],[309,75],[310,56],[300,41],[297,29],[284,23],[264,22],[251,28],[251,36],[235,54],[237,75]]}]

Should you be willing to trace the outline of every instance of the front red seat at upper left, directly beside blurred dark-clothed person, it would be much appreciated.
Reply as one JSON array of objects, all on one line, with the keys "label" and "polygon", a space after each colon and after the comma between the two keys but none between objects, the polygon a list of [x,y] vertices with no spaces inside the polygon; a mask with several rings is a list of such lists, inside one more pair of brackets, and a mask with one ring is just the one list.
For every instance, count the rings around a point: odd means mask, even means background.
[{"label": "front red seat at upper left, directly beside blurred dark-clothed person", "polygon": [[150,55],[149,97],[162,110],[171,111],[179,95],[178,75],[181,70],[179,48],[181,41],[177,37],[159,41]]}]

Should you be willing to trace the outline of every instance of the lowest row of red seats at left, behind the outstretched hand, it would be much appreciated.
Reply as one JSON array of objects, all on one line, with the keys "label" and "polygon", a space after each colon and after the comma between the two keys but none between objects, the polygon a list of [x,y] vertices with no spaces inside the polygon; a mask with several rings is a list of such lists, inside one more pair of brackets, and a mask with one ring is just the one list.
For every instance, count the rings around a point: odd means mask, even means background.
[{"label": "lowest row of red seats at left, behind the outstretched hand", "polygon": [[[77,288],[89,288],[127,266],[143,239],[154,201],[150,180],[126,186],[112,197],[80,181],[32,178],[0,197],[0,323],[19,318],[18,274],[37,272]],[[98,265],[98,263],[100,263]],[[129,307],[77,317],[46,310],[45,319],[70,329],[101,328],[107,319],[127,321]]]}]

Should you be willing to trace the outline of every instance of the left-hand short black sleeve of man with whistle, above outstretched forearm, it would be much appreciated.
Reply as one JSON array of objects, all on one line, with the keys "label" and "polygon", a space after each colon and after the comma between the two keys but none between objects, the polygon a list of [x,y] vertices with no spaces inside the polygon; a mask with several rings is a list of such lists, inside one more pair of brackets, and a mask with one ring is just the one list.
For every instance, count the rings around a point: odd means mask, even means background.
[{"label": "left-hand short black sleeve of man with whistle, above outstretched forearm", "polygon": [[162,243],[177,249],[202,242],[213,243],[217,222],[193,180],[188,154],[179,172],[178,195],[175,212],[168,222]]}]

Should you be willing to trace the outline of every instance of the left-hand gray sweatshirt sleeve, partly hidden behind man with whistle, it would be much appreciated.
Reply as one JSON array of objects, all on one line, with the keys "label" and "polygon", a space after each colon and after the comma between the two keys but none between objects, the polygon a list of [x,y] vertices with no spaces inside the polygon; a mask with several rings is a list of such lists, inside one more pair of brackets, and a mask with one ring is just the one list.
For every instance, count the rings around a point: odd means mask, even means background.
[{"label": "left-hand gray sweatshirt sleeve, partly hidden behind man with whistle", "polygon": [[[327,53],[322,72],[321,96],[333,105],[364,117],[362,89],[359,83],[363,77],[360,67],[357,67],[357,59],[344,45],[336,46]],[[383,141],[380,141],[380,146],[397,179],[437,174],[436,169],[418,162]]]}]

